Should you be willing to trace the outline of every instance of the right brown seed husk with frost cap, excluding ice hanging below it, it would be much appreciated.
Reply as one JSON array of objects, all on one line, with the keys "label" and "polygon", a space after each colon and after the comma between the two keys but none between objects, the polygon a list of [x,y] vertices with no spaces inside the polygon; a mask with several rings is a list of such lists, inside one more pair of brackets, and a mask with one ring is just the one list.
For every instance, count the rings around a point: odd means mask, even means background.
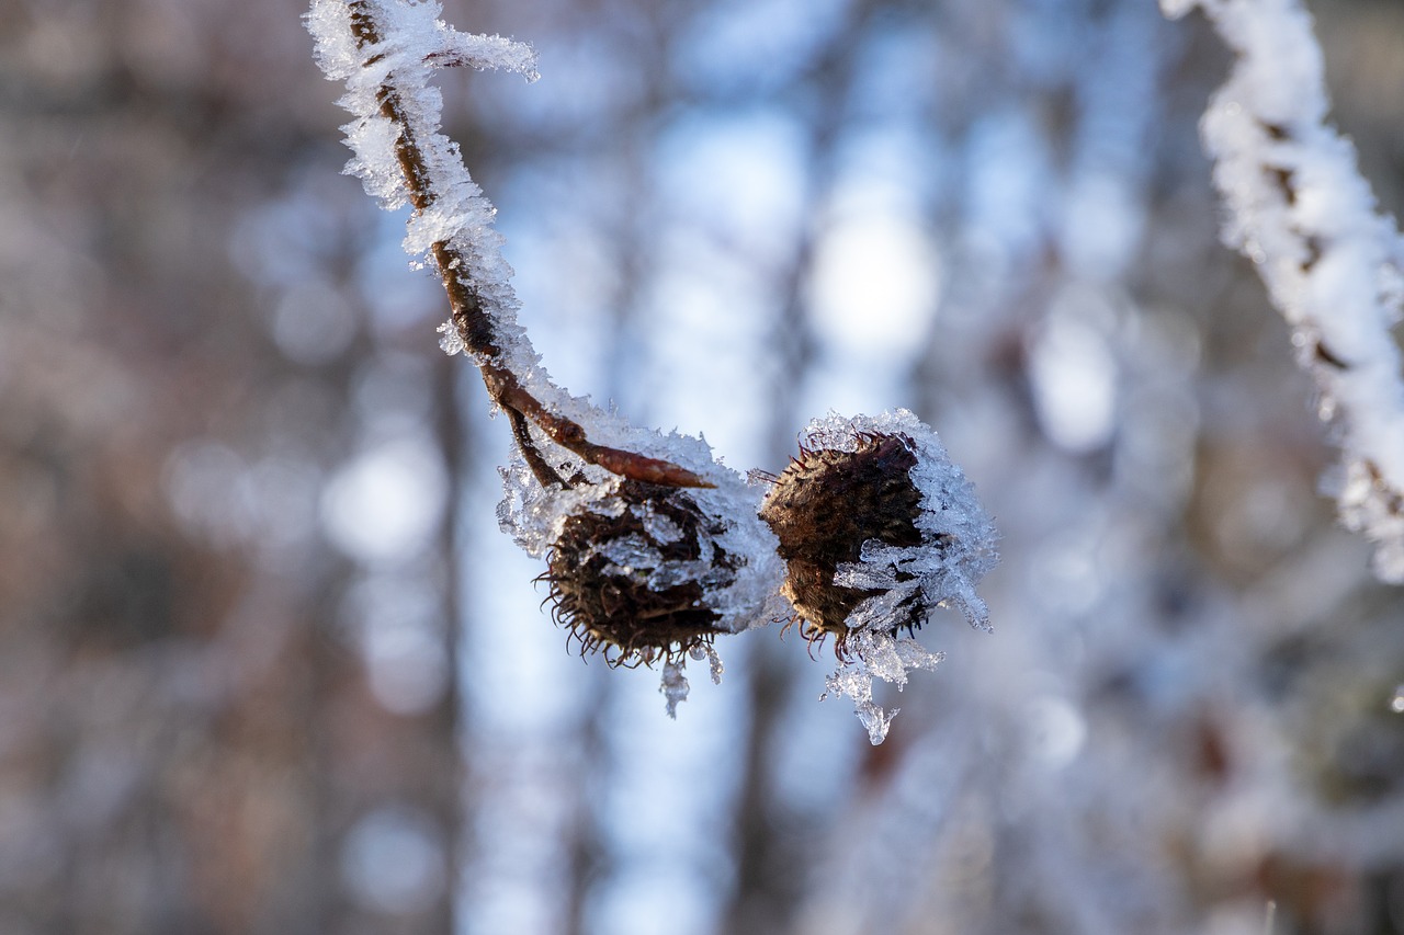
[{"label": "right brown seed husk with frost cap, excluding ice hanging below it", "polygon": [[911,413],[809,425],[761,518],[779,539],[783,592],[810,642],[894,636],[952,605],[988,626],[974,585],[994,566],[994,526],[935,432]]}]

